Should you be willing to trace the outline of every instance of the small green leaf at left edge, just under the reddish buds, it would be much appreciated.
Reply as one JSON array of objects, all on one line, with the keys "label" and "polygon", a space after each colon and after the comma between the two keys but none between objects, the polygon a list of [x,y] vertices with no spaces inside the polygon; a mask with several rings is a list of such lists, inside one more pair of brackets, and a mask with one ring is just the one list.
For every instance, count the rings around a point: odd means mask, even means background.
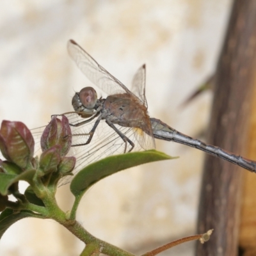
[{"label": "small green leaf at left edge, just under the reddish buds", "polygon": [[19,180],[30,182],[35,175],[35,170],[28,170],[20,173],[20,175],[0,173],[0,193],[1,195],[8,195],[8,188]]}]

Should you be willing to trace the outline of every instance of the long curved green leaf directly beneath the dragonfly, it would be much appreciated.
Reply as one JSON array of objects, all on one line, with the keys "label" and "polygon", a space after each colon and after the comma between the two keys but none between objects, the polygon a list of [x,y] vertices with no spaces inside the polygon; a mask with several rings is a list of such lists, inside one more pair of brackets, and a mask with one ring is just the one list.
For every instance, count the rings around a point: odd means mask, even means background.
[{"label": "long curved green leaf directly beneath the dragonfly", "polygon": [[95,182],[108,177],[109,175],[154,161],[173,159],[162,152],[147,150],[143,152],[131,152],[116,156],[106,157],[98,162],[89,164],[77,173],[70,184],[70,190],[74,196],[81,196]]}]

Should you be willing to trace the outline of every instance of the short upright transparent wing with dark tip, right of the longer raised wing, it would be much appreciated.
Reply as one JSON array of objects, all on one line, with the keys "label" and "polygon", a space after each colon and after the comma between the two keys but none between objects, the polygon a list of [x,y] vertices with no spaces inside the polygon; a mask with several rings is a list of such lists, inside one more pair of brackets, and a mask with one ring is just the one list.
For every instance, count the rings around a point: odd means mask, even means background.
[{"label": "short upright transparent wing with dark tip, right of the longer raised wing", "polygon": [[143,64],[136,74],[134,75],[132,79],[132,88],[131,92],[134,93],[142,102],[143,105],[145,105],[148,108],[147,99],[145,96],[145,85],[146,85],[146,65]]}]

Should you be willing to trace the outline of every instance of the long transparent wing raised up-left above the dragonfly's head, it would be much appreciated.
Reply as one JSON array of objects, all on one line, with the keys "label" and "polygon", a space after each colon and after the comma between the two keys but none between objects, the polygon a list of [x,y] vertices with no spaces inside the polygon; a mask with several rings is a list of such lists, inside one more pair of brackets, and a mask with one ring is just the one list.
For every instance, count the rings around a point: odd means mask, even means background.
[{"label": "long transparent wing raised up-left above the dragonfly's head", "polygon": [[83,74],[101,90],[108,93],[108,95],[116,93],[131,94],[124,84],[109,74],[104,67],[101,67],[99,63],[74,40],[68,41],[67,48],[68,54],[76,62],[77,67],[79,67]]}]

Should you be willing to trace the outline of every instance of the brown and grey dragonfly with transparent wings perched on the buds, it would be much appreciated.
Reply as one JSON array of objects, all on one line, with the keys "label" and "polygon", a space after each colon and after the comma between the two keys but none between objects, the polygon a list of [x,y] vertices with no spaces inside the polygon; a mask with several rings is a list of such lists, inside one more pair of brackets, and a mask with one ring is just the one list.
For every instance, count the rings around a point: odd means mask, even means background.
[{"label": "brown and grey dragonfly with transparent wings perched on the buds", "polygon": [[[83,148],[77,153],[80,166],[116,152],[156,148],[156,138],[197,148],[256,172],[256,161],[191,138],[157,118],[150,118],[145,97],[146,65],[138,69],[132,79],[132,88],[129,90],[74,40],[68,41],[67,49],[81,72],[100,90],[108,94],[106,99],[97,99],[94,88],[86,87],[76,92],[72,99],[75,113],[67,114],[70,115],[67,117],[74,129],[72,146]],[[103,123],[111,129],[108,129],[103,138],[97,134],[98,137],[93,140],[98,126]],[[103,129],[106,129],[106,126]]]}]

